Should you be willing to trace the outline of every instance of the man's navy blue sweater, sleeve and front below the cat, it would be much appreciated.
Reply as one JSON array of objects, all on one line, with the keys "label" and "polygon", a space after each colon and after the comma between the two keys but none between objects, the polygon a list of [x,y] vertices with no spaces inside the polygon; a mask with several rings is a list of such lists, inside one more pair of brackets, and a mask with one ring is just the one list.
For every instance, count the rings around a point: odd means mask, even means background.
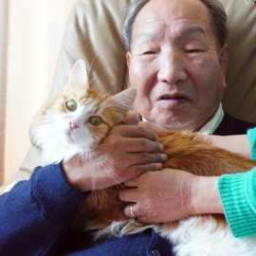
[{"label": "man's navy blue sweater, sleeve and front below the cat", "polygon": [[36,168],[0,197],[0,255],[173,255],[151,229],[97,243],[90,233],[72,233],[70,224],[88,194],[66,181],[60,164]]}]

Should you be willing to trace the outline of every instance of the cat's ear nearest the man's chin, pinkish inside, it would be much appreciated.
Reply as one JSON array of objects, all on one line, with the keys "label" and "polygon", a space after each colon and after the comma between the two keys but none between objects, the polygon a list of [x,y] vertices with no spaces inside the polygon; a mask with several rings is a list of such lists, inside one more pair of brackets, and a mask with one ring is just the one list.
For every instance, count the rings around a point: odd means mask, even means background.
[{"label": "cat's ear nearest the man's chin, pinkish inside", "polygon": [[136,96],[137,90],[130,88],[112,96],[111,99],[119,113],[126,114],[128,110],[132,109]]}]

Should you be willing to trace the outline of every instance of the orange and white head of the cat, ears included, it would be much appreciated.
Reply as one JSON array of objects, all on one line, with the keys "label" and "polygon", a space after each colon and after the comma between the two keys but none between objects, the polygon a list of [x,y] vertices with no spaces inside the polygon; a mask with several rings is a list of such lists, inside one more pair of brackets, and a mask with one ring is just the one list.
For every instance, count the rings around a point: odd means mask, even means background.
[{"label": "orange and white head of the cat, ears included", "polygon": [[89,82],[85,64],[74,64],[68,81],[39,112],[35,143],[46,163],[60,162],[96,149],[109,130],[123,121],[136,98],[135,89],[101,95]]}]

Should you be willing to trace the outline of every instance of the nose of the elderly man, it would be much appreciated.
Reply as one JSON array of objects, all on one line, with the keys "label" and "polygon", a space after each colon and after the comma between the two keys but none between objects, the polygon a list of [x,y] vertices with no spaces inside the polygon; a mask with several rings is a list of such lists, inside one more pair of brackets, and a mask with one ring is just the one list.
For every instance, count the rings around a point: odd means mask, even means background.
[{"label": "nose of the elderly man", "polygon": [[178,51],[164,51],[158,60],[158,81],[177,84],[187,79],[186,60]]}]

